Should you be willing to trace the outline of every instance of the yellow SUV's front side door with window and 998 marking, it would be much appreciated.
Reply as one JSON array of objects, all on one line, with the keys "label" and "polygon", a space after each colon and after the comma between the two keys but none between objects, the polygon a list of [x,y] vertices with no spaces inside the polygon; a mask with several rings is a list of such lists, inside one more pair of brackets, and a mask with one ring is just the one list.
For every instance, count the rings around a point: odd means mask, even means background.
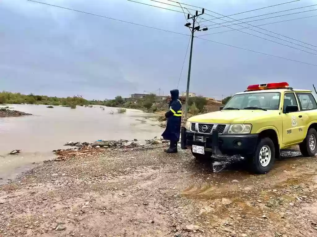
[{"label": "yellow SUV's front side door with window and 998 marking", "polygon": [[[294,92],[284,94],[282,121],[283,121],[283,138],[284,145],[290,145],[302,141],[303,120],[302,111],[285,113],[285,108],[288,105],[298,106]],[[298,106],[299,107],[299,106]]]}]

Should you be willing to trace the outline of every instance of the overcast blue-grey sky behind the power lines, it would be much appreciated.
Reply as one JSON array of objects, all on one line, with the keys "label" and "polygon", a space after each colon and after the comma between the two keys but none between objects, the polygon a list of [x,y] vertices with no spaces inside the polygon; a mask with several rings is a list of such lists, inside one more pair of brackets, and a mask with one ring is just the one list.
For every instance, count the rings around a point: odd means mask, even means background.
[{"label": "overcast blue-grey sky behind the power lines", "polygon": [[[41,0],[38,0],[41,1]],[[161,7],[150,0],[136,0]],[[158,0],[168,2],[167,0]],[[231,15],[291,0],[181,0],[214,12]],[[184,14],[126,0],[43,0],[45,3],[77,9],[124,21],[189,34]],[[317,4],[301,0],[277,7],[232,16],[251,16]],[[192,7],[190,7],[192,8]],[[279,13],[314,10],[316,6]],[[186,10],[186,9],[185,9]],[[206,11],[210,15],[220,17]],[[204,19],[212,19],[204,15]],[[266,15],[264,17],[276,16]],[[250,22],[253,25],[317,15],[316,11]],[[232,21],[229,18],[224,18]],[[244,21],[261,19],[250,18]],[[214,20],[223,23],[221,20]],[[83,94],[87,99],[110,99],[133,93],[161,94],[177,87],[189,36],[140,27],[120,21],[56,8],[27,0],[0,2],[0,90],[25,94],[71,96]],[[236,23],[236,22],[235,22]],[[244,32],[278,41],[317,54],[317,17],[261,26],[308,44],[301,47],[267,35],[244,29]],[[206,21],[205,25],[214,24]],[[227,23],[228,24],[228,23]],[[246,26],[246,25],[244,25]],[[212,26],[215,27],[215,26]],[[236,26],[231,26],[238,28]],[[209,27],[211,28],[211,27]],[[197,32],[196,36],[230,30],[227,27]],[[316,55],[282,46],[242,32],[217,33],[202,38],[243,47],[267,54],[317,64]],[[313,45],[313,46],[312,46]],[[188,55],[179,90],[186,90]],[[249,84],[287,81],[294,88],[312,89],[317,84],[317,67],[261,55],[194,39],[190,91],[221,98],[244,90]]]}]

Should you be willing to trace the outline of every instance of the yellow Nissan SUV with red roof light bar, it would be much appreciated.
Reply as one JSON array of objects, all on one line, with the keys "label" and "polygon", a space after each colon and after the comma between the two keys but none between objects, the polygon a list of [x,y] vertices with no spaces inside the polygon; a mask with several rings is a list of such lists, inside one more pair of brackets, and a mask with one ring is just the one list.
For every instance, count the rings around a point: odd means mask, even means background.
[{"label": "yellow Nissan SUV with red roof light bar", "polygon": [[287,82],[251,85],[220,111],[191,117],[181,129],[182,149],[197,159],[241,155],[254,173],[267,173],[280,149],[299,144],[302,155],[317,151],[317,104],[310,90]]}]

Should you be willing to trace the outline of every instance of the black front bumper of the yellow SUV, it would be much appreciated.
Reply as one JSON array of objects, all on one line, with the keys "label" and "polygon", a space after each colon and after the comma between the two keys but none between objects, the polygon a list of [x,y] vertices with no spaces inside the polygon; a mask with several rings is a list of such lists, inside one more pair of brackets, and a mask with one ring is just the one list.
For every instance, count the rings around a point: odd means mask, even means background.
[{"label": "black front bumper of the yellow SUV", "polygon": [[[255,151],[258,134],[225,134],[218,135],[195,133],[181,128],[181,147],[191,149],[192,145],[204,146],[205,151],[222,155],[248,155]],[[195,140],[194,140],[195,138]]]}]

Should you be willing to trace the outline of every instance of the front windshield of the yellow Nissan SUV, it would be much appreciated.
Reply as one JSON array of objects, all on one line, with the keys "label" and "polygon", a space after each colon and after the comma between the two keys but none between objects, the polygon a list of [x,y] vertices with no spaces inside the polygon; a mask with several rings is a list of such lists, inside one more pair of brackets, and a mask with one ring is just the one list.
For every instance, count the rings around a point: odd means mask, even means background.
[{"label": "front windshield of the yellow Nissan SUV", "polygon": [[260,92],[236,94],[223,107],[223,110],[230,109],[257,109],[263,110],[278,109],[281,93]]}]

